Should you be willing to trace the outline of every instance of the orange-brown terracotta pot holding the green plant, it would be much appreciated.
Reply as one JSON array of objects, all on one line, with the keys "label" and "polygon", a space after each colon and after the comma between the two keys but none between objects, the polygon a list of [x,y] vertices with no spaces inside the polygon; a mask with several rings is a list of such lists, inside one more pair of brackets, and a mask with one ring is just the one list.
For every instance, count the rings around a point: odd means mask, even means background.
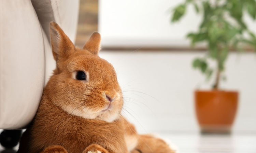
[{"label": "orange-brown terracotta pot holding the green plant", "polygon": [[237,105],[237,91],[195,91],[196,114],[201,132],[230,133]]}]

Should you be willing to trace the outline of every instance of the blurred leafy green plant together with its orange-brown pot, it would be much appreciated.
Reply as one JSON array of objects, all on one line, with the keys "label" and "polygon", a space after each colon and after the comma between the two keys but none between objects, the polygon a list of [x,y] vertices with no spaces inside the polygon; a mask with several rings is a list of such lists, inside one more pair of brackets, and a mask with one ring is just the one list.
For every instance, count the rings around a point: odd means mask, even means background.
[{"label": "blurred leafy green plant together with its orange-brown pot", "polygon": [[[177,22],[184,16],[188,5],[201,14],[202,21],[197,32],[187,37],[191,45],[205,42],[208,51],[204,57],[195,58],[193,67],[214,80],[212,90],[195,91],[195,107],[201,132],[229,133],[238,105],[238,91],[225,91],[219,84],[225,80],[225,61],[229,50],[241,51],[247,46],[256,48],[256,36],[251,32],[243,15],[247,12],[256,18],[255,0],[185,0],[173,9],[171,22]],[[215,67],[209,66],[215,62]],[[215,77],[212,78],[212,75]]]}]

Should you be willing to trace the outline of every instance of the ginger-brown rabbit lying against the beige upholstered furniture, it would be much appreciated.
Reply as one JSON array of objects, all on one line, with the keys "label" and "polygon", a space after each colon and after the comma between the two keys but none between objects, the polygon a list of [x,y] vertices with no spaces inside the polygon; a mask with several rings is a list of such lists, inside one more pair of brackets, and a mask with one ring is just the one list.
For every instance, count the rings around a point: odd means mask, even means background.
[{"label": "ginger-brown rabbit lying against the beige upholstered furniture", "polygon": [[173,152],[121,116],[122,91],[113,66],[98,56],[99,33],[78,49],[55,22],[50,31],[56,69],[18,153]]}]

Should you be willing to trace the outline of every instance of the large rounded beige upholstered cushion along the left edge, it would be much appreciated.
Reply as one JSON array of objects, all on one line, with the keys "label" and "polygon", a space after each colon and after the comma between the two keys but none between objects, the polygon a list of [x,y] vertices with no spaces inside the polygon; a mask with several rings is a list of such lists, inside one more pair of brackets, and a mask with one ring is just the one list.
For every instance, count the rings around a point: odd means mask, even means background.
[{"label": "large rounded beige upholstered cushion along the left edge", "polygon": [[30,0],[0,0],[0,129],[34,117],[44,84],[44,44]]}]

